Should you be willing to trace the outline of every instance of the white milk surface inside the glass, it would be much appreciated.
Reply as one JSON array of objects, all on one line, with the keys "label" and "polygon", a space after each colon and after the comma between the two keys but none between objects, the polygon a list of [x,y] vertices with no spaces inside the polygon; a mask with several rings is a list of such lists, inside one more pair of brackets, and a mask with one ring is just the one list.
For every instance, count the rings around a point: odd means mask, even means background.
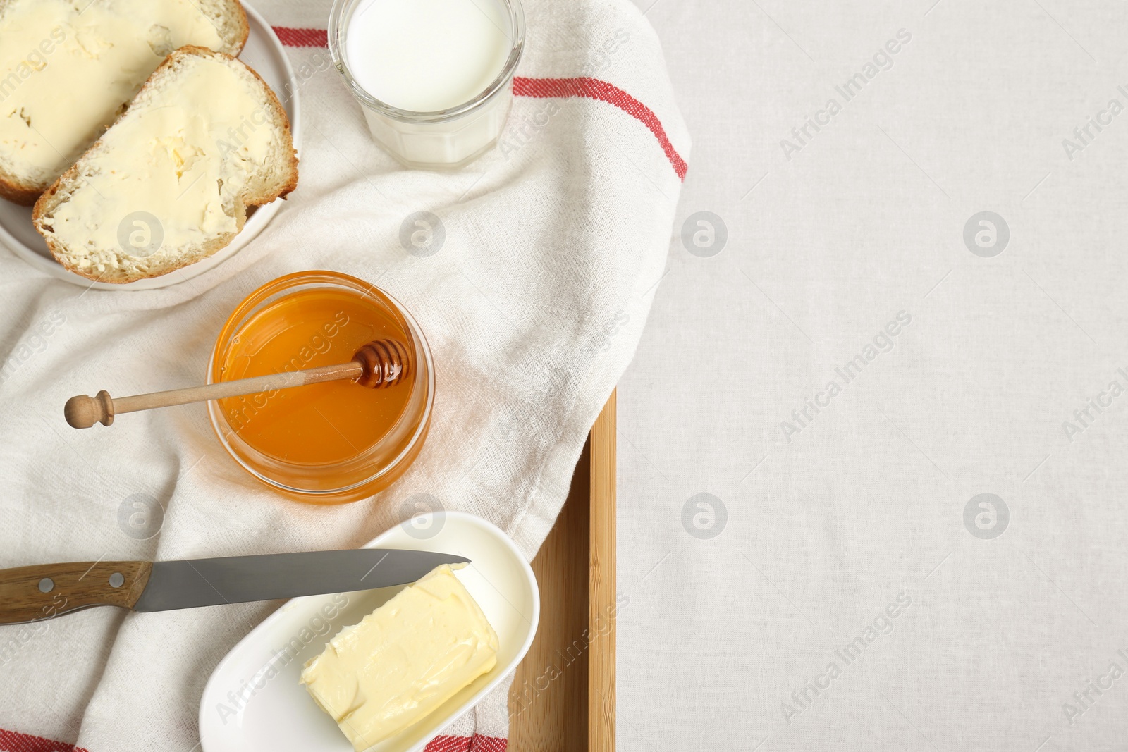
[{"label": "white milk surface inside the glass", "polygon": [[399,109],[457,107],[485,91],[513,48],[501,0],[360,0],[344,57],[356,83]]}]

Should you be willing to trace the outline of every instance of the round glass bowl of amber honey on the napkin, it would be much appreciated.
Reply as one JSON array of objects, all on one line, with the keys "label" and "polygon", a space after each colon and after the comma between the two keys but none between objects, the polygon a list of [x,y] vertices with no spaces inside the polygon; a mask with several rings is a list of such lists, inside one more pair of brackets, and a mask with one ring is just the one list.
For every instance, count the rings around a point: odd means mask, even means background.
[{"label": "round glass bowl of amber honey on the napkin", "polygon": [[208,383],[346,363],[381,339],[407,355],[395,386],[341,380],[212,400],[220,443],[255,478],[302,502],[341,504],[387,488],[423,448],[434,364],[411,313],[378,287],[338,272],[264,284],[223,325]]}]

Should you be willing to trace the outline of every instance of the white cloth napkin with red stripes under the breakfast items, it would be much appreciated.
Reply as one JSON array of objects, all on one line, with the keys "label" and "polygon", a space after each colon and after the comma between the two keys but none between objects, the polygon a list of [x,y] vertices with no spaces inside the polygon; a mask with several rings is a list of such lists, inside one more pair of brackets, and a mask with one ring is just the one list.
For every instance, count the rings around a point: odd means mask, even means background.
[{"label": "white cloth napkin with red stripes under the breakfast items", "polygon": [[[400,504],[420,493],[494,522],[531,558],[662,277],[689,139],[656,38],[627,0],[530,3],[501,148],[456,172],[413,171],[370,140],[326,50],[293,46],[323,43],[329,2],[257,9],[284,27],[303,113],[298,189],[262,236],[148,292],[83,292],[0,249],[0,566],[355,547],[409,516]],[[580,77],[605,83],[541,80]],[[428,257],[399,240],[418,211],[446,235]],[[71,395],[201,382],[239,300],[310,268],[389,291],[434,352],[431,434],[390,489],[334,507],[282,498],[224,454],[199,405],[112,428],[63,423]],[[120,524],[136,503],[164,510],[147,540]],[[190,752],[211,671],[277,605],[0,627],[0,749]],[[505,695],[432,749],[504,749]]]}]

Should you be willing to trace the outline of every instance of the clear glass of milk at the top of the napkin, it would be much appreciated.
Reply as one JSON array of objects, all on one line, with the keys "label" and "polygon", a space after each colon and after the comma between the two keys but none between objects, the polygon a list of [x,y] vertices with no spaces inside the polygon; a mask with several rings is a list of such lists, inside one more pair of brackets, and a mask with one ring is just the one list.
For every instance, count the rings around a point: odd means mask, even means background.
[{"label": "clear glass of milk at the top of the napkin", "polygon": [[408,167],[496,143],[525,46],[520,0],[335,0],[329,53],[372,138]]}]

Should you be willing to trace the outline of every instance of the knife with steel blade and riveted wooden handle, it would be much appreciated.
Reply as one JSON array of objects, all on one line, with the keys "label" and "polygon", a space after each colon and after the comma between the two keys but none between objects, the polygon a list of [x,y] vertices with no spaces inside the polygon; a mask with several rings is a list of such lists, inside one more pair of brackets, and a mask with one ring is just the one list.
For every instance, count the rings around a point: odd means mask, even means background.
[{"label": "knife with steel blade and riveted wooden handle", "polygon": [[393,548],[228,556],[179,561],[71,561],[0,569],[0,625],[94,605],[169,611],[347,593],[415,582],[465,556]]}]

